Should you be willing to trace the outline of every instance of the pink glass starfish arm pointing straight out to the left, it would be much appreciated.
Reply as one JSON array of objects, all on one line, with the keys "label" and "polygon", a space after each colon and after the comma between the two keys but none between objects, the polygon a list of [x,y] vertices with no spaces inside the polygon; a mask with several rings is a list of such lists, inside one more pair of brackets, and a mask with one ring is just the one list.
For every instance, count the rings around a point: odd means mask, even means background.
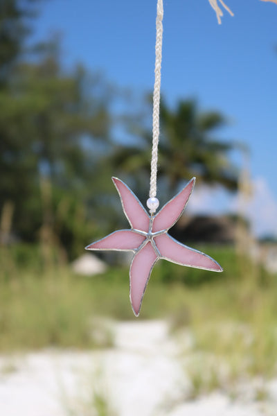
[{"label": "pink glass starfish arm pointing straight out to the left", "polygon": [[112,232],[86,247],[86,250],[136,250],[145,240],[145,236],[132,231],[132,229],[120,229]]}]

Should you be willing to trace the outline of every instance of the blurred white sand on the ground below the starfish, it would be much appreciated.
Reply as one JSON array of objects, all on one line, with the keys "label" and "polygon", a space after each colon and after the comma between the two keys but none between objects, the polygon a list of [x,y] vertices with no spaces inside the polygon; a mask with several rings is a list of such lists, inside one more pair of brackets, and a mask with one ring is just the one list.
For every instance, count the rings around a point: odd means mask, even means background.
[{"label": "blurred white sand on the ground below the starfish", "polygon": [[276,416],[270,402],[231,401],[220,392],[187,401],[190,381],[165,322],[115,324],[115,347],[94,352],[44,350],[0,358],[1,416],[97,416],[93,397],[109,416]]}]

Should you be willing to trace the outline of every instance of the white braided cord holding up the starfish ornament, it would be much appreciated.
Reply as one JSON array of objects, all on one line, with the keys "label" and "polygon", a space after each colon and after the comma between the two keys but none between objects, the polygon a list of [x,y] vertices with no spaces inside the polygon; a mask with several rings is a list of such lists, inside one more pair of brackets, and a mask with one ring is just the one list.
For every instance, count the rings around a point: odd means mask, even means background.
[{"label": "white braided cord holding up the starfish ornament", "polygon": [[163,0],[157,3],[156,19],[156,60],[155,60],[155,82],[153,94],[153,139],[152,139],[152,159],[150,176],[150,198],[155,198],[157,194],[157,165],[158,165],[158,144],[159,144],[159,114],[161,96],[161,46],[163,43]]}]

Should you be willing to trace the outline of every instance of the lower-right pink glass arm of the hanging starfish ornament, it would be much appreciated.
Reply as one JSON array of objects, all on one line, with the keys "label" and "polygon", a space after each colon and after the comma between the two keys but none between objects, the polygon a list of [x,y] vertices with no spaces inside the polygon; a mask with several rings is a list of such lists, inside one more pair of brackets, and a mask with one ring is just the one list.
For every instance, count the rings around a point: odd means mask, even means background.
[{"label": "lower-right pink glass arm of the hanging starfish ornament", "polygon": [[222,272],[223,270],[211,257],[179,243],[168,234],[157,236],[155,242],[163,259],[182,266],[212,270],[213,272]]}]

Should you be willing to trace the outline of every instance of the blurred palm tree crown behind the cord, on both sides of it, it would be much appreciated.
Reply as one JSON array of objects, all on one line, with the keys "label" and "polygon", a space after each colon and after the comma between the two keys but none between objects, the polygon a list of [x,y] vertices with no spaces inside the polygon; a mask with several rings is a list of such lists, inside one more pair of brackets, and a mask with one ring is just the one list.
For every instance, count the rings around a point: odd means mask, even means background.
[{"label": "blurred palm tree crown behind the cord, on both sides of it", "polygon": [[[235,145],[213,137],[213,130],[226,125],[222,114],[199,113],[195,101],[179,101],[175,110],[161,101],[160,121],[158,180],[165,191],[167,188],[172,195],[192,176],[198,183],[237,189],[238,174],[229,159]],[[150,174],[150,130],[141,131],[141,138],[136,146],[116,148],[111,163],[121,175],[133,177],[135,173],[143,182],[141,178],[147,179]]]}]

